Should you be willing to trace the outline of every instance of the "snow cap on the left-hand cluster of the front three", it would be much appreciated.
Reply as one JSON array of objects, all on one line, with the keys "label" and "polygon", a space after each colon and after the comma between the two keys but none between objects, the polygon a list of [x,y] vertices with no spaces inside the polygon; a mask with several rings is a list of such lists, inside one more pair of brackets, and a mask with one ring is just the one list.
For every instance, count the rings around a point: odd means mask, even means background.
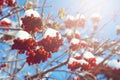
[{"label": "snow cap on the left-hand cluster of the front three", "polygon": [[26,32],[26,31],[18,31],[17,34],[15,35],[15,39],[20,38],[20,39],[29,39],[32,36]]}]

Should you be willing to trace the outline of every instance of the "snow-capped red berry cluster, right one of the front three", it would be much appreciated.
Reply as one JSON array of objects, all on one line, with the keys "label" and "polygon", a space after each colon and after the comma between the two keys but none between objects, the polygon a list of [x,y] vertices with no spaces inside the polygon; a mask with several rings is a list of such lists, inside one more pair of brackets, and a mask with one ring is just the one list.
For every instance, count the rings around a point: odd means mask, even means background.
[{"label": "snow-capped red berry cluster, right one of the front three", "polygon": [[39,45],[42,45],[48,52],[57,52],[59,47],[63,45],[63,40],[60,33],[54,29],[47,29],[43,39],[38,42]]}]

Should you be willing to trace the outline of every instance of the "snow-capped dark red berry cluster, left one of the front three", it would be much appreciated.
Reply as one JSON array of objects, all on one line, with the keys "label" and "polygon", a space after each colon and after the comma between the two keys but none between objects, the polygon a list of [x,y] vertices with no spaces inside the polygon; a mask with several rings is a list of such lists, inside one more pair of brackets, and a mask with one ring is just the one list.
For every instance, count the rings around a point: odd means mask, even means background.
[{"label": "snow-capped dark red berry cluster, left one of the front three", "polygon": [[19,50],[19,53],[24,53],[25,50],[31,50],[36,48],[36,41],[31,37],[26,31],[19,31],[15,35],[14,43],[12,49]]}]

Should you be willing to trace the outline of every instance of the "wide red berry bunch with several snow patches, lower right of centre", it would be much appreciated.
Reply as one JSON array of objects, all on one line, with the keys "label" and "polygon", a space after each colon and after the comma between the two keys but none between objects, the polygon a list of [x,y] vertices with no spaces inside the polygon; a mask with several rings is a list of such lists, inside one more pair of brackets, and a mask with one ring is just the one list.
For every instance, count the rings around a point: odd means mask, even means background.
[{"label": "wide red berry bunch with several snow patches, lower right of centre", "polygon": [[[79,69],[80,71],[90,70],[96,66],[96,59],[90,53],[85,53],[85,55],[80,55],[79,53],[74,53],[74,57],[70,58],[68,63],[68,68],[71,70]],[[90,57],[86,57],[90,56]]]}]

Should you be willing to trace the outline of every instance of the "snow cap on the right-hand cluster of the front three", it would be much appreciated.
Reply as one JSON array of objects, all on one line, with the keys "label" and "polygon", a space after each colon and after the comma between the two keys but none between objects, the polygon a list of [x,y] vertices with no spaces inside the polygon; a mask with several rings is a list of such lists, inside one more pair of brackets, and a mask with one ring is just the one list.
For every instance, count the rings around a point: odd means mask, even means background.
[{"label": "snow cap on the right-hand cluster of the front three", "polygon": [[[46,38],[48,35],[50,37],[56,37],[57,36],[56,33],[59,33],[59,32],[57,30],[52,29],[52,28],[48,28],[46,30],[45,34],[43,35],[43,38]],[[60,33],[59,33],[59,39],[61,39]]]}]

